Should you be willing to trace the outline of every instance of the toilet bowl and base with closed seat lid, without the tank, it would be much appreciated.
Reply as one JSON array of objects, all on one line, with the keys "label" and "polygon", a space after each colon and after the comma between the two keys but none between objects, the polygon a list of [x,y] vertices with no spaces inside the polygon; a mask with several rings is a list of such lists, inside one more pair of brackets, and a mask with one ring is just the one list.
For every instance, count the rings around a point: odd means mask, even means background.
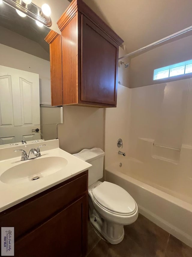
[{"label": "toilet bowl and base with closed seat lid, without the tank", "polygon": [[137,220],[138,207],[134,199],[116,184],[97,181],[88,188],[91,224],[111,244],[124,238],[124,225]]}]

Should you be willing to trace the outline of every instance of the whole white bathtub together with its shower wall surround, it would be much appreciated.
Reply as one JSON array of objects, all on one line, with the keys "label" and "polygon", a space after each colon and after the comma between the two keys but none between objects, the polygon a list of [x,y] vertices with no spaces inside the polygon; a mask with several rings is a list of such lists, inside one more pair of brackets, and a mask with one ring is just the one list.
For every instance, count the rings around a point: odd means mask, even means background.
[{"label": "whole white bathtub together with its shower wall surround", "polygon": [[192,246],[192,79],[118,90],[116,110],[106,111],[106,179]]}]

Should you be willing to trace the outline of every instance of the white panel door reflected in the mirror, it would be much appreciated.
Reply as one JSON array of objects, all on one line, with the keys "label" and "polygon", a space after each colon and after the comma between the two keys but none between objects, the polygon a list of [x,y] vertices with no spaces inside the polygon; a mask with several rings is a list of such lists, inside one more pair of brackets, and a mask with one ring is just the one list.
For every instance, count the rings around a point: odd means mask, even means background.
[{"label": "white panel door reflected in the mirror", "polygon": [[[13,126],[23,128],[5,133],[3,127]],[[40,139],[41,131],[34,134],[34,128],[40,129],[39,74],[0,65],[0,144]]]}]

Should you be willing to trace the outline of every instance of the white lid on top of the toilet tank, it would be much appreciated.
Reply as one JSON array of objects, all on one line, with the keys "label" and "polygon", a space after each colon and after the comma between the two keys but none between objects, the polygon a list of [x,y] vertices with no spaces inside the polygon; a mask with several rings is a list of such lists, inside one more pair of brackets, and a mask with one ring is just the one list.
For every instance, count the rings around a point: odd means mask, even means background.
[{"label": "white lid on top of the toilet tank", "polygon": [[105,155],[105,152],[101,148],[83,149],[81,152],[74,153],[74,156],[83,161],[93,161]]}]

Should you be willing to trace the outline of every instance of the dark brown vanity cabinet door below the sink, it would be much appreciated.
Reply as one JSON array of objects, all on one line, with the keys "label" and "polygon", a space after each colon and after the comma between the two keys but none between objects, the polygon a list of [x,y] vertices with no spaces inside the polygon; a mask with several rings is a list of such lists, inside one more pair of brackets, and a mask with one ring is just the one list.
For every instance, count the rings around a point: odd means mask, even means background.
[{"label": "dark brown vanity cabinet door below the sink", "polygon": [[16,257],[79,257],[86,254],[87,196],[15,243]]}]

